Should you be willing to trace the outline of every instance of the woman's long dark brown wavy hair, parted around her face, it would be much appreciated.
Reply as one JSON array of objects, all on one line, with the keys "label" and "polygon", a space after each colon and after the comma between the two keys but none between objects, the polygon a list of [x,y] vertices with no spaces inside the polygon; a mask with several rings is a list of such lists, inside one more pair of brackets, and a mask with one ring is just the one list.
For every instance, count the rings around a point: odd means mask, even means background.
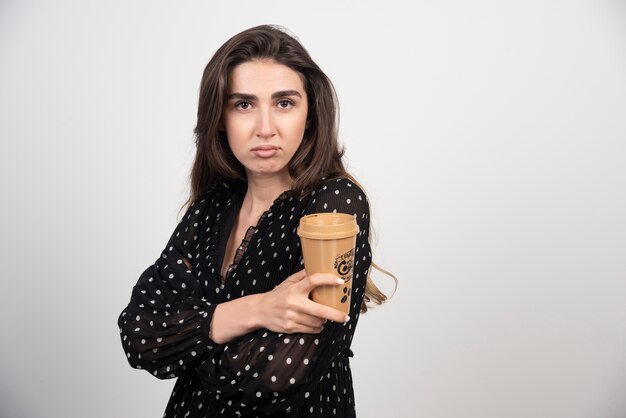
[{"label": "woman's long dark brown wavy hair, parted around her face", "polygon": [[[255,60],[271,60],[287,66],[298,73],[304,83],[308,99],[307,128],[300,147],[288,164],[289,174],[294,179],[292,192],[304,196],[323,177],[342,176],[358,184],[342,162],[343,148],[337,140],[339,106],[332,82],[298,40],[281,27],[261,25],[226,41],[204,69],[198,121],[194,129],[196,155],[187,203],[197,200],[223,181],[246,179],[246,171],[233,155],[226,133],[220,127],[232,70],[239,64]],[[367,311],[366,302],[382,304],[385,300],[387,296],[368,275],[361,311]]]}]

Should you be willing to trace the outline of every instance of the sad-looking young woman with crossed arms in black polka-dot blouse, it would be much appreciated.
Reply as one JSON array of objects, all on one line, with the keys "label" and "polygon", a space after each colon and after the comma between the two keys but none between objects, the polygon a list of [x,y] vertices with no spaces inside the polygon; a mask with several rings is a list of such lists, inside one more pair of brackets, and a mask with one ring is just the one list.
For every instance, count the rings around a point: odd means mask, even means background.
[{"label": "sad-looking young woman with crossed arms in black polka-dot blouse", "polygon": [[[342,164],[333,86],[280,28],[222,45],[204,70],[191,196],[118,324],[128,361],[178,380],[164,417],[354,417],[350,345],[365,302],[369,208]],[[309,292],[302,216],[354,215],[349,315]]]}]

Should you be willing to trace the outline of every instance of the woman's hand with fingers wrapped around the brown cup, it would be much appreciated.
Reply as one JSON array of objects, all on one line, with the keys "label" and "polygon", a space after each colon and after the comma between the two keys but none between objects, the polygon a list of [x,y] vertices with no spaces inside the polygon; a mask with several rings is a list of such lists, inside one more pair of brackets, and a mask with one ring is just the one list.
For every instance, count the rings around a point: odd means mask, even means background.
[{"label": "woman's hand with fingers wrapped around the brown cup", "polygon": [[256,309],[260,327],[287,334],[317,334],[326,320],[347,322],[350,318],[345,313],[309,299],[316,287],[343,284],[342,279],[330,273],[307,276],[300,270],[292,274],[273,290],[259,295]]}]

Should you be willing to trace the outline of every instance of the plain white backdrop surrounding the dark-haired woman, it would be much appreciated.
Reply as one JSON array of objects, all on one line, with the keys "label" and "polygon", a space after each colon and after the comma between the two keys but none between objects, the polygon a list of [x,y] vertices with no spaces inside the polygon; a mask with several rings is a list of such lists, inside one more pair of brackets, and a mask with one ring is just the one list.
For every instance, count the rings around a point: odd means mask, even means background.
[{"label": "plain white backdrop surrounding the dark-haired woman", "polygon": [[0,2],[0,416],[162,415],[117,316],[185,201],[202,70],[261,23],[334,81],[400,279],[357,330],[359,417],[626,416],[617,0]]}]

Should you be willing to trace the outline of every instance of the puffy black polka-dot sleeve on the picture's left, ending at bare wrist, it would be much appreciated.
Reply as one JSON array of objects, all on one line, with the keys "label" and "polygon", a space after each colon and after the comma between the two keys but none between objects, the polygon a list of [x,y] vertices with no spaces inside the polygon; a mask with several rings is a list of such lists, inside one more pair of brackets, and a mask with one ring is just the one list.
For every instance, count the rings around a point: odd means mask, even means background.
[{"label": "puffy black polka-dot sleeve on the picture's left, ending at bare wrist", "polygon": [[194,203],[156,262],[134,286],[118,318],[128,362],[156,377],[176,377],[215,345],[209,324],[215,310],[187,267],[197,250],[205,201]]}]

